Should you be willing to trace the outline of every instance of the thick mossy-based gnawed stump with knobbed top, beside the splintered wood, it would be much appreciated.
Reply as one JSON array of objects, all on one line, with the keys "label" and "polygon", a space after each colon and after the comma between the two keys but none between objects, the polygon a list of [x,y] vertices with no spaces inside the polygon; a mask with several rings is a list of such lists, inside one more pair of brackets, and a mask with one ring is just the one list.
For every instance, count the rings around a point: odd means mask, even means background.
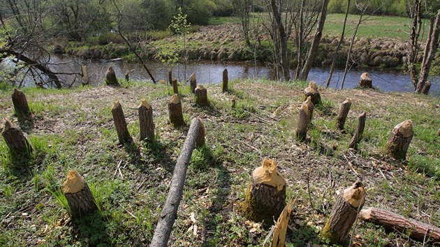
[{"label": "thick mossy-based gnawed stump with knobbed top, beside the splintered wood", "polygon": [[252,173],[242,209],[254,221],[272,225],[286,206],[286,181],[274,160],[265,159]]}]

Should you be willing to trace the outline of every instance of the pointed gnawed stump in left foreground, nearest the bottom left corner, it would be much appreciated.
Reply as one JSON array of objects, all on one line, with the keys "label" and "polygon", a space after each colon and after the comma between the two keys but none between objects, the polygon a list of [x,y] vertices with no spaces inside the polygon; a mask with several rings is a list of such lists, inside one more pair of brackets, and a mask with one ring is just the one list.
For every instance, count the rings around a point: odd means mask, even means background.
[{"label": "pointed gnawed stump in left foreground, nearest the bottom left corner", "polygon": [[73,219],[81,218],[98,210],[85,179],[75,170],[68,172],[67,179],[63,184],[63,192],[66,195]]}]

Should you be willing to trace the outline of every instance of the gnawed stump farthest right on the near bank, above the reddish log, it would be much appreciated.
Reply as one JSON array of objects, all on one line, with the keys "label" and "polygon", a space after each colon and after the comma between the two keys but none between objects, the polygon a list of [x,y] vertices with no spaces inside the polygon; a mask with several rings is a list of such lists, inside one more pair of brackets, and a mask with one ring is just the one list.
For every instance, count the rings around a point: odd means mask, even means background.
[{"label": "gnawed stump farthest right on the near bank, above the reddish log", "polygon": [[406,158],[406,151],[414,135],[412,123],[411,120],[405,120],[394,127],[385,145],[386,154],[397,160]]}]

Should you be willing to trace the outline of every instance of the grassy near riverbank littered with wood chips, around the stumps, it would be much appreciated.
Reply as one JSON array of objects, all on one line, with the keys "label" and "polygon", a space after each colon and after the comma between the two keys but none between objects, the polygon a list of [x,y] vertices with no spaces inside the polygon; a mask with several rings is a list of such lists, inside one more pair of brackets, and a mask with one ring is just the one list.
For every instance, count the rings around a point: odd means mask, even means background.
[{"label": "grassy near riverbank littered with wood chips, around the stumps", "polygon": [[[305,83],[244,80],[233,82],[230,92],[223,94],[218,85],[208,85],[209,107],[194,105],[188,87],[181,87],[184,119],[203,120],[206,146],[193,152],[170,244],[261,245],[268,230],[237,208],[252,170],[265,157],[277,160],[288,197],[298,197],[289,246],[319,241],[336,191],[353,184],[356,174],[367,188],[365,207],[383,207],[440,226],[439,99],[322,90],[323,105],[314,112],[309,142],[301,144],[294,130],[304,87]],[[0,119],[21,126],[34,147],[29,162],[15,163],[0,141],[0,246],[149,244],[188,130],[167,123],[167,87],[130,82],[121,88],[24,92],[33,121],[17,121],[11,91],[0,93]],[[232,95],[237,97],[235,109],[230,108]],[[346,97],[353,105],[344,134],[334,126],[339,103]],[[140,98],[154,109],[156,142],[151,144],[137,140]],[[110,112],[116,99],[124,107],[133,144],[117,144]],[[347,147],[362,111],[367,112],[365,136],[355,153]],[[413,120],[415,135],[408,160],[400,163],[384,156],[383,147],[393,127],[405,119]],[[85,177],[100,207],[75,223],[60,189],[71,169]],[[407,234],[358,222],[351,237],[354,246],[422,246]]]}]

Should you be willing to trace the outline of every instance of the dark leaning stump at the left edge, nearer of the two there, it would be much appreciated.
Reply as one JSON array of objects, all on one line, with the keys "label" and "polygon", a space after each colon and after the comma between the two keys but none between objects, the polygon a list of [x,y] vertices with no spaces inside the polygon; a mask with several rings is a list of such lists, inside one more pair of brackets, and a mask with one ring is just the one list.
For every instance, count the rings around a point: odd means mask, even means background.
[{"label": "dark leaning stump at the left edge, nearer of the two there", "polygon": [[6,121],[1,135],[6,142],[6,145],[8,145],[10,156],[13,160],[31,157],[31,144],[29,144],[29,141],[22,130],[13,126],[10,121]]}]

